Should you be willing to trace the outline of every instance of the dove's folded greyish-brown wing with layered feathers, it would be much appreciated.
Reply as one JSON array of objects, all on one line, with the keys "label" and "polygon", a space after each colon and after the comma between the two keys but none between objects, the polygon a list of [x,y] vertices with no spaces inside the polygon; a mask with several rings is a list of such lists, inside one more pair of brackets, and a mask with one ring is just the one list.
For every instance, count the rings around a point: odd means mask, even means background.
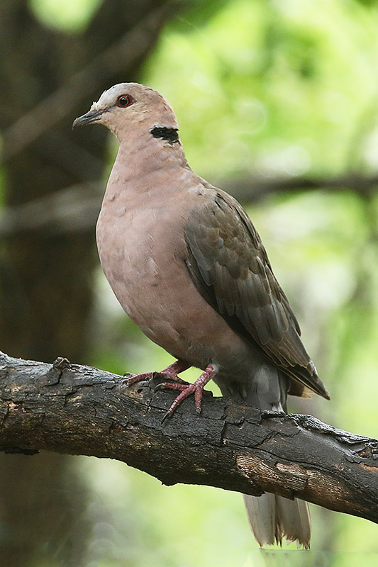
[{"label": "dove's folded greyish-brown wing with layered feathers", "polygon": [[211,192],[209,206],[192,213],[185,228],[187,266],[196,287],[230,327],[294,378],[291,393],[302,395],[301,384],[329,398],[250,218],[228,193]]}]

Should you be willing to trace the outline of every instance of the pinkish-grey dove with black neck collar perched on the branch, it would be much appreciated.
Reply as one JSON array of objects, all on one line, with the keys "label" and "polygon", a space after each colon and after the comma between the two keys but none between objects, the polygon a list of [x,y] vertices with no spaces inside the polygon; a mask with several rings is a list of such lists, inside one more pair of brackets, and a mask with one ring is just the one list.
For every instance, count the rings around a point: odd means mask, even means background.
[{"label": "pinkish-grey dove with black neck collar perched on the branch", "polygon": [[[201,410],[204,386],[261,410],[286,412],[287,395],[330,399],[301,341],[287,296],[243,207],[189,167],[172,107],[135,82],[104,91],[73,127],[99,123],[118,154],[96,224],[106,279],[127,315],[174,357],[159,387],[189,395]],[[194,366],[194,383],[179,378]],[[151,372],[131,375],[128,385]],[[308,549],[304,500],[244,495],[260,546],[282,538]]]}]

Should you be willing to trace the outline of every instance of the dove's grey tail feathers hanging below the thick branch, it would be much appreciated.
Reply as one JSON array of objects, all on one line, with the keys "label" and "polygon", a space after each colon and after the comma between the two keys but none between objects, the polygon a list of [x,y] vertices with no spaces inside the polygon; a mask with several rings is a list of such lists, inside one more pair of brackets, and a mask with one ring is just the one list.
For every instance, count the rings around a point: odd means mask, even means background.
[{"label": "dove's grey tail feathers hanging below the thick branch", "polygon": [[243,495],[248,520],[260,546],[288,542],[310,547],[311,522],[304,500],[289,500],[265,493],[261,496]]}]

